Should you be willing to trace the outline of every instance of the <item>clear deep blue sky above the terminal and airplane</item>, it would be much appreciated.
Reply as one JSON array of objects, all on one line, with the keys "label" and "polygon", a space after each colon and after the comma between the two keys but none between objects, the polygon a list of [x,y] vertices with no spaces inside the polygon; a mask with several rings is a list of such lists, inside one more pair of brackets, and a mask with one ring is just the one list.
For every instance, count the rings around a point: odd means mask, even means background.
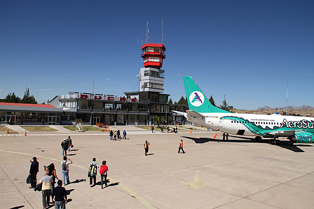
[{"label": "clear deep blue sky above the terminal and airplane", "polygon": [[[138,89],[141,46],[166,59],[164,93],[185,97],[192,76],[209,98],[256,109],[314,106],[314,1],[0,1],[0,98],[42,103],[69,91],[124,96]],[[107,78],[109,81],[107,81]]]}]

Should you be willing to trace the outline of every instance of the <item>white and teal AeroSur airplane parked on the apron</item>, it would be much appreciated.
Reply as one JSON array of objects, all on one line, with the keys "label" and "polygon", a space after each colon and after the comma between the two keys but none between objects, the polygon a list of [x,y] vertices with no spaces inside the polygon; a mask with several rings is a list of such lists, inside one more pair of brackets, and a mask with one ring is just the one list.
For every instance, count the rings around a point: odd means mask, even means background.
[{"label": "white and teal AeroSur airplane parked on the apron", "polygon": [[293,143],[314,141],[314,118],[286,115],[261,115],[231,113],[213,106],[192,77],[183,76],[189,110],[184,113],[188,121],[229,134],[272,138],[287,137]]}]

